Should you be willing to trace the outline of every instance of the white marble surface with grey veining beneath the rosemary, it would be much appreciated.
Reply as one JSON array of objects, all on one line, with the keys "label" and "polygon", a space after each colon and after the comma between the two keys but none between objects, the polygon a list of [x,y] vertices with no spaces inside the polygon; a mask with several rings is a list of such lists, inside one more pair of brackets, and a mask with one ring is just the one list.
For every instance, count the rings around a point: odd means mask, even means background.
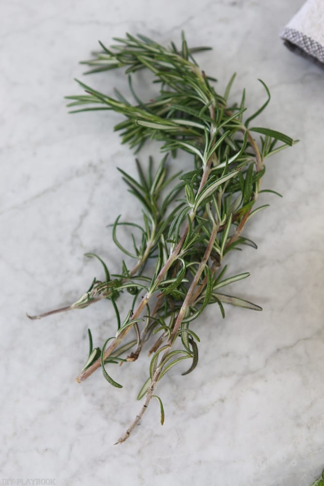
[{"label": "white marble surface with grey veining beneath the rosemary", "polygon": [[[1,414],[0,484],[54,479],[73,485],[308,486],[324,467],[324,71],[284,48],[280,29],[301,0],[56,0],[1,3]],[[29,321],[25,312],[67,304],[99,267],[117,270],[106,228],[118,213],[134,217],[116,166],[134,173],[134,157],[112,132],[117,116],[68,115],[78,61],[125,31],[161,42],[214,48],[198,56],[220,90],[238,72],[233,97],[247,88],[258,106],[266,81],[266,126],[300,138],[269,160],[264,186],[271,207],[251,221],[258,250],[233,265],[250,271],[236,292],[264,311],[214,310],[200,322],[200,363],[174,369],[131,440],[113,443],[138,410],[142,360],[116,370],[121,390],[97,372],[74,377],[107,334],[105,303]],[[109,79],[107,81],[107,79]],[[91,79],[106,89],[112,75]],[[123,86],[123,85],[122,85]],[[126,85],[125,85],[126,86]],[[142,160],[145,160],[142,156]],[[116,199],[117,205],[112,201]],[[233,267],[233,268],[234,268]],[[1,483],[2,481],[2,483]],[[17,484],[17,481],[16,481]],[[30,483],[32,484],[32,483]],[[34,483],[36,484],[36,483]]]}]

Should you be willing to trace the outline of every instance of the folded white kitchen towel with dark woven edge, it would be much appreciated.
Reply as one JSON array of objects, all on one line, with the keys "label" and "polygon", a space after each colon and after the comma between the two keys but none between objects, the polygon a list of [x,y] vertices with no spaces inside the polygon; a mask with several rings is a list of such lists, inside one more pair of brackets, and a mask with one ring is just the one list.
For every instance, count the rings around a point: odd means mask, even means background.
[{"label": "folded white kitchen towel with dark woven edge", "polygon": [[324,66],[324,0],[307,0],[280,33],[285,44]]}]

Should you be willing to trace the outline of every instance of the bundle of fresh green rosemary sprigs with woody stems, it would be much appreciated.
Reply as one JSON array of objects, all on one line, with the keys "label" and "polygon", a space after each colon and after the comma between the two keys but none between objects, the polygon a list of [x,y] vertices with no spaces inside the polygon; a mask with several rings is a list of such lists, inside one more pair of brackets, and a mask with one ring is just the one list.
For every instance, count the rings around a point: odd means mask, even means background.
[{"label": "bundle of fresh green rosemary sprigs with woody stems", "polygon": [[[152,398],[159,401],[163,424],[162,401],[154,394],[156,384],[180,361],[190,362],[183,374],[196,367],[199,337],[193,324],[207,305],[216,304],[222,317],[223,304],[261,310],[251,302],[223,293],[226,285],[249,276],[241,273],[225,277],[223,260],[241,245],[256,247],[243,236],[243,229],[250,218],[268,206],[256,208],[258,195],[265,192],[261,190],[264,161],[292,145],[293,140],[272,129],[250,127],[270,101],[263,81],[267,99],[245,120],[245,91],[239,104],[228,103],[235,75],[223,95],[216,92],[216,80],[205,74],[193,58],[194,52],[209,48],[189,49],[184,35],[180,50],[173,43],[165,48],[143,35],[127,34],[115,41],[117,44],[110,49],[101,44],[102,52],[84,64],[90,66],[89,73],[125,67],[134,103],[118,90],[115,97],[110,97],[78,81],[85,94],[68,96],[68,106],[76,106],[74,111],[114,110],[125,118],[115,127],[121,131],[122,143],[139,150],[147,139],[155,139],[161,142],[161,152],[166,153],[155,170],[152,158],[148,168],[136,160],[137,180],[119,169],[128,190],[142,205],[142,225],[122,222],[118,217],[112,225],[112,237],[119,250],[134,259],[134,266],[128,268],[122,260],[119,274],[111,275],[99,256],[87,254],[101,262],[104,279],[95,278],[72,305],[33,318],[110,300],[117,329],[110,330],[101,349],[93,348],[88,330],[89,355],[77,381],[82,382],[101,367],[103,376],[116,387],[121,385],[111,377],[112,364],[135,361],[150,336],[152,339],[156,334],[149,349],[148,379],[137,397],[145,398],[135,420],[118,441],[123,442]],[[131,74],[139,69],[153,73],[154,86],[159,88],[154,99],[143,101],[137,96]],[[166,160],[169,153],[174,157],[179,149],[190,155],[191,165],[188,172],[170,177]],[[118,239],[121,225],[134,231],[130,234],[132,250]],[[139,242],[136,232],[141,235]],[[131,309],[124,317],[118,304],[123,292],[129,294]],[[132,333],[133,338],[126,340]]]}]

